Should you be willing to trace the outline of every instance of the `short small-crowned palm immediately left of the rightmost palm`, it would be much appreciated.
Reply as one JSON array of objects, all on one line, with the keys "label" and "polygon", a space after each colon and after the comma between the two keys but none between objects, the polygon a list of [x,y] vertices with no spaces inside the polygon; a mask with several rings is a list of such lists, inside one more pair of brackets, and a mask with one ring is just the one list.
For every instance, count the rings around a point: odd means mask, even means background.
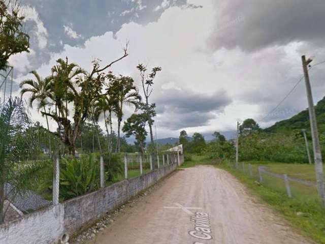
[{"label": "short small-crowned palm immediately left of the rightmost palm", "polygon": [[[113,96],[103,95],[96,99],[94,103],[94,114],[95,118],[98,120],[101,114],[104,114],[104,121],[107,133],[107,140],[108,140],[108,152],[111,154],[112,151],[112,144],[110,133],[112,133],[112,112],[116,111],[116,99]],[[106,116],[106,112],[108,112],[108,117]],[[109,127],[110,125],[110,132]]]}]

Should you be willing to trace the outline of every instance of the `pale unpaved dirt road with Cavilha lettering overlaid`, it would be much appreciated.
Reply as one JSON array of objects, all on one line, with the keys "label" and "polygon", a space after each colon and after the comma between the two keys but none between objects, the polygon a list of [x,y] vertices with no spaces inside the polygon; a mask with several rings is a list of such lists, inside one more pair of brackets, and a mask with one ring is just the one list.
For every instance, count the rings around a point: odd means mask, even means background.
[{"label": "pale unpaved dirt road with Cavilha lettering overlaid", "polygon": [[177,171],[89,243],[313,243],[246,193],[228,172]]}]

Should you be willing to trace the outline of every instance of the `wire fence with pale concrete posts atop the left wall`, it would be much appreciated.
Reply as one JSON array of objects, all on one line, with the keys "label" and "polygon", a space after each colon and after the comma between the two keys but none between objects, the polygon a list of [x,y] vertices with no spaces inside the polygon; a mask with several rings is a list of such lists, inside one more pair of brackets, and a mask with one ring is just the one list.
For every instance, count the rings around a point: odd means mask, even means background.
[{"label": "wire fence with pale concrete posts atop the left wall", "polygon": [[177,152],[112,154],[110,157],[99,154],[21,157],[14,162],[13,174],[7,177],[4,186],[5,221],[183,162],[183,155]]}]

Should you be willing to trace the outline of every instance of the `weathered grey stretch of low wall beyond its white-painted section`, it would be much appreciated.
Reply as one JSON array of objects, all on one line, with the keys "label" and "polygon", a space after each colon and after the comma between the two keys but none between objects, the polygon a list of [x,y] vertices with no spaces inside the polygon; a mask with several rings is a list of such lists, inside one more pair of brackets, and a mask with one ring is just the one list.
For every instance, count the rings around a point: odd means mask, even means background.
[{"label": "weathered grey stretch of low wall beyond its white-painted section", "polygon": [[176,164],[168,165],[64,202],[64,230],[73,235],[175,169]]}]

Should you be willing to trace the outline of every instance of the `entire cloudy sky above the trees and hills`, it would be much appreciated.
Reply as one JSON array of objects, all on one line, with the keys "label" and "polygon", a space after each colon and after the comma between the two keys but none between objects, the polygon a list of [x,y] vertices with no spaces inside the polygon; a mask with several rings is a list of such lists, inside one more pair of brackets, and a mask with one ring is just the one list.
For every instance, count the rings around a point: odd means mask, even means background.
[{"label": "entire cloudy sky above the trees and hills", "polygon": [[[267,127],[307,107],[304,82],[272,112],[302,77],[301,55],[325,60],[323,0],[21,0],[30,53],[13,56],[14,89],[55,60],[90,70],[129,56],[112,71],[134,77],[137,64],[160,66],[151,102],[159,138],[236,128],[252,117]],[[325,64],[310,70],[314,101],[325,96]],[[25,99],[28,99],[26,95]],[[125,117],[133,112],[127,108]],[[36,110],[34,120],[45,125]],[[103,126],[103,125],[102,125]],[[52,130],[56,124],[51,123]],[[104,127],[103,127],[104,129]]]}]

